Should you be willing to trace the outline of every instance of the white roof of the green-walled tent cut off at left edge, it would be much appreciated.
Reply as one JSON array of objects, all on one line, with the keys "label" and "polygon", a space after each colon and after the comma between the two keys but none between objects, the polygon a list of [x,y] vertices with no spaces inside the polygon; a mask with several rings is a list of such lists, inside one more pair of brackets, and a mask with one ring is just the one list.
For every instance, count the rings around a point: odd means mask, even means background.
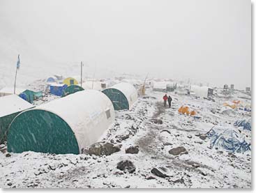
[{"label": "white roof of the green-walled tent cut off at left edge", "polygon": [[33,105],[17,95],[6,95],[0,98],[0,117],[24,111],[32,107]]}]

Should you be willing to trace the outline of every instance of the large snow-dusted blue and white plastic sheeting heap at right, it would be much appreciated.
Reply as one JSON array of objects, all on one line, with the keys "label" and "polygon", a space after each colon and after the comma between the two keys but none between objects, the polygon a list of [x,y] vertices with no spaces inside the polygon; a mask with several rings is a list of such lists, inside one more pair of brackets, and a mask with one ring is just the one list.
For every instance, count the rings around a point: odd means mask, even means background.
[{"label": "large snow-dusted blue and white plastic sheeting heap at right", "polygon": [[232,153],[250,150],[250,144],[236,128],[216,126],[209,131],[207,136],[211,138],[211,148],[223,148]]}]

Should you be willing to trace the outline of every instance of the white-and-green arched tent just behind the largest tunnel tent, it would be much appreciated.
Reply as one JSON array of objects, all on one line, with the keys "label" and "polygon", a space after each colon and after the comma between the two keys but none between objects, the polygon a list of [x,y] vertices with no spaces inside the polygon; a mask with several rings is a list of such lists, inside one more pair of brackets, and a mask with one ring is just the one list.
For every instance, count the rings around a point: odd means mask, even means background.
[{"label": "white-and-green arched tent just behind the largest tunnel tent", "polygon": [[122,82],[103,90],[112,101],[115,110],[131,109],[137,100],[137,91],[132,84]]}]

